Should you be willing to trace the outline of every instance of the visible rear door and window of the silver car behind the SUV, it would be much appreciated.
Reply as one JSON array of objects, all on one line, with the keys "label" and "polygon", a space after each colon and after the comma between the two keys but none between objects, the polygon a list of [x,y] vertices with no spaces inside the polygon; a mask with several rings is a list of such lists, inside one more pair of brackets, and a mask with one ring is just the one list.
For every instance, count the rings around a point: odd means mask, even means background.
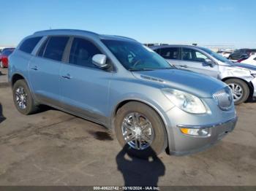
[{"label": "visible rear door and window of the silver car behind the SUV", "polygon": [[162,58],[173,64],[174,66],[179,65],[180,63],[180,48],[179,47],[165,47],[155,50]]}]

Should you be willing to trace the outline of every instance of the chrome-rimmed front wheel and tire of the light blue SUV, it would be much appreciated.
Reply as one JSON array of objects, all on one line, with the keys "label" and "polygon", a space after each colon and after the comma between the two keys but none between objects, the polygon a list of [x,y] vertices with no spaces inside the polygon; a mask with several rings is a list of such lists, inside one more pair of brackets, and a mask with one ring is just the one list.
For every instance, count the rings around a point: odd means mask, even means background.
[{"label": "chrome-rimmed front wheel and tire of the light blue SUV", "polygon": [[151,107],[131,101],[116,114],[115,133],[129,155],[157,157],[167,147],[165,125]]}]

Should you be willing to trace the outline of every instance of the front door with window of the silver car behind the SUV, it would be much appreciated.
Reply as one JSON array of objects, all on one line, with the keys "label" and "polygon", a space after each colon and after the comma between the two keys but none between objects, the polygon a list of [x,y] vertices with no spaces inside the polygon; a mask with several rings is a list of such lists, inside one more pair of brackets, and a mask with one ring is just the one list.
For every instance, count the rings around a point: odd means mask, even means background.
[{"label": "front door with window of the silver car behind the SUV", "polygon": [[203,52],[192,48],[181,48],[181,68],[217,78],[219,74],[218,65],[209,66],[206,59],[211,60]]}]

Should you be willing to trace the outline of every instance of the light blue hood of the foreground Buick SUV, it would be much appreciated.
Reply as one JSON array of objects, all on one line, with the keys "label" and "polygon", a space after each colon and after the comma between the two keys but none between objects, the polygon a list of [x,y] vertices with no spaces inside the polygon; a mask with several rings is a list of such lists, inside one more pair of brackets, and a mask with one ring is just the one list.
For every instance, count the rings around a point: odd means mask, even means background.
[{"label": "light blue hood of the foreground Buick SUV", "polygon": [[212,98],[213,93],[227,86],[214,77],[181,69],[132,71],[132,74],[138,79],[161,83],[163,88],[182,90],[199,98]]}]

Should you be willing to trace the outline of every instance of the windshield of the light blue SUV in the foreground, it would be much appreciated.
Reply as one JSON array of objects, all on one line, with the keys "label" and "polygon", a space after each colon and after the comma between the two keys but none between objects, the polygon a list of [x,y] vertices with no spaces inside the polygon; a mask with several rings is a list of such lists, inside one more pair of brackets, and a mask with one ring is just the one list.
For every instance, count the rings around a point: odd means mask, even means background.
[{"label": "windshield of the light blue SUV in the foreground", "polygon": [[138,42],[102,40],[118,61],[129,71],[173,69],[156,52]]}]

